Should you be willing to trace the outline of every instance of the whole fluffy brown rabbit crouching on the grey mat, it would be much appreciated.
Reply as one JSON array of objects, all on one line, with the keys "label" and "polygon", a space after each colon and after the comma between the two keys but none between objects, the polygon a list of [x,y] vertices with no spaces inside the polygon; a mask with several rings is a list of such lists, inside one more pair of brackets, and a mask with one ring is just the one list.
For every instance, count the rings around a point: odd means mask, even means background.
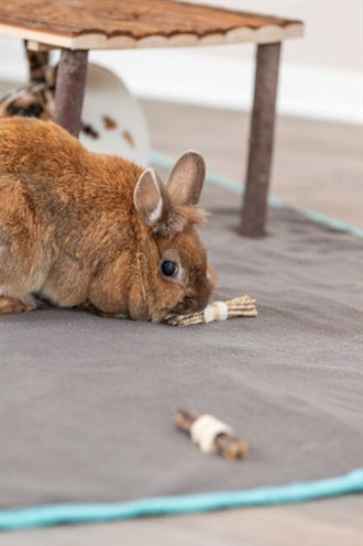
[{"label": "whole fluffy brown rabbit crouching on the grey mat", "polygon": [[63,307],[161,320],[202,309],[216,284],[194,225],[205,162],[164,185],[152,168],[88,152],[64,129],[0,120],[0,313]]}]

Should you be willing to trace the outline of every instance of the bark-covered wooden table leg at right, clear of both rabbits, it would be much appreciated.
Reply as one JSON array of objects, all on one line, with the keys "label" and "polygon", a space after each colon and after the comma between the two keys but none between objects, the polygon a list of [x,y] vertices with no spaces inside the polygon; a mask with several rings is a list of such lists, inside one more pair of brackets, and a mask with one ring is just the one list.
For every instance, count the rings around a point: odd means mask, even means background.
[{"label": "bark-covered wooden table leg at right, clear of both rabbits", "polygon": [[241,233],[248,237],[265,234],[279,54],[280,42],[257,45],[249,166],[241,219]]}]

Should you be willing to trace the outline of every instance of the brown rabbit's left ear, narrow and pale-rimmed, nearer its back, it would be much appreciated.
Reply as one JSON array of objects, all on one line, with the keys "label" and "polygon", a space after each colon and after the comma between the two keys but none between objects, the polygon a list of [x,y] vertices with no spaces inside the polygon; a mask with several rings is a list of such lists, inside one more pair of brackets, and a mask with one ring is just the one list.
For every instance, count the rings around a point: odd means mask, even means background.
[{"label": "brown rabbit's left ear, narrow and pale-rimmed, nearer its back", "polygon": [[165,216],[168,196],[153,168],[146,168],[140,176],[134,189],[133,203],[146,226],[155,226]]}]

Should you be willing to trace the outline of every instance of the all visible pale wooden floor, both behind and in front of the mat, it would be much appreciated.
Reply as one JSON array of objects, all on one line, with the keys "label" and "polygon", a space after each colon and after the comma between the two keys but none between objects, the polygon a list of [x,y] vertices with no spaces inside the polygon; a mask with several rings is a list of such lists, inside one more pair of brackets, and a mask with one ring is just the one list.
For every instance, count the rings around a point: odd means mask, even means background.
[{"label": "all visible pale wooden floor, both behind and in front of the mat", "polygon": [[[143,102],[152,145],[177,156],[194,148],[208,167],[232,179],[245,171],[248,117],[237,112]],[[272,193],[362,228],[362,133],[358,127],[280,119]],[[360,546],[362,498],[107,524],[26,529],[2,546]]]}]

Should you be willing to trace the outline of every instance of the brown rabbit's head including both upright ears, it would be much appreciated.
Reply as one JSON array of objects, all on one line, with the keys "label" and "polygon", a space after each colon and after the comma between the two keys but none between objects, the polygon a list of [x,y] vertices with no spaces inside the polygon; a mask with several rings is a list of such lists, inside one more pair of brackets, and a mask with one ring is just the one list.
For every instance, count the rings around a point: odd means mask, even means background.
[{"label": "brown rabbit's head including both upright ears", "polygon": [[206,307],[217,284],[195,225],[206,212],[198,207],[205,182],[202,156],[188,151],[179,157],[165,184],[146,168],[134,189],[134,206],[152,233],[143,264],[144,298],[154,321],[169,312],[191,313]]}]

